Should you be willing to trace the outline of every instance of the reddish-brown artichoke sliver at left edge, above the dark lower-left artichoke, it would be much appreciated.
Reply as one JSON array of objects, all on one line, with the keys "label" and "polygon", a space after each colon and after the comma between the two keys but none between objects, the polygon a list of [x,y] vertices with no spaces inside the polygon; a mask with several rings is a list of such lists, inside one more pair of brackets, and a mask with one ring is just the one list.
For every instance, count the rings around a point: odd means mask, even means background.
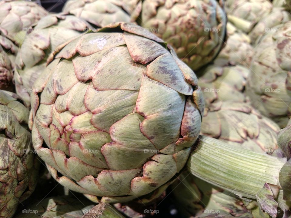
[{"label": "reddish-brown artichoke sliver at left edge, above the dark lower-left artichoke", "polygon": [[0,89],[12,91],[14,89],[13,71],[17,46],[8,38],[0,35]]}]

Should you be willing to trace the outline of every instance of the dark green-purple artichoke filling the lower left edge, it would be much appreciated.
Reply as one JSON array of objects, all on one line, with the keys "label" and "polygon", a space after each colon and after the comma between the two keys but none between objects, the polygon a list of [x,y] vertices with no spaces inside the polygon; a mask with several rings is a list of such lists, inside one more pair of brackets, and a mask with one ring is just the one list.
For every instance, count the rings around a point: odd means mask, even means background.
[{"label": "dark green-purple artichoke filling the lower left edge", "polygon": [[28,109],[19,96],[0,90],[0,217],[10,218],[35,189],[39,161],[32,150]]}]

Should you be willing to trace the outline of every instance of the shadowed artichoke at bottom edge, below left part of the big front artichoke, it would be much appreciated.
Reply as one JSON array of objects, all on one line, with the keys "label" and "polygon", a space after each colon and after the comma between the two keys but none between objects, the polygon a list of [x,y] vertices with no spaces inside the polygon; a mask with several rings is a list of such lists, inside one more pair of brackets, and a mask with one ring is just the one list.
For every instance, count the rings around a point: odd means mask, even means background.
[{"label": "shadowed artichoke at bottom edge, below left part of the big front artichoke", "polygon": [[37,201],[14,218],[81,218],[93,206],[94,204],[87,199],[58,196]]}]

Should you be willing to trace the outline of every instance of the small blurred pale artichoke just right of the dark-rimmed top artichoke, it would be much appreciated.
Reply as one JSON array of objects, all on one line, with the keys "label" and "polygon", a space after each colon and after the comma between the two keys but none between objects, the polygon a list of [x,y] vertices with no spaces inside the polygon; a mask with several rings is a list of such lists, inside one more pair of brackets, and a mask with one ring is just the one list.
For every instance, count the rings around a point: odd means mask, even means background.
[{"label": "small blurred pale artichoke just right of the dark-rimmed top artichoke", "polygon": [[214,60],[214,64],[219,66],[240,64],[249,68],[253,58],[253,47],[250,45],[249,36],[237,30],[229,22],[227,23],[227,35],[226,45]]}]

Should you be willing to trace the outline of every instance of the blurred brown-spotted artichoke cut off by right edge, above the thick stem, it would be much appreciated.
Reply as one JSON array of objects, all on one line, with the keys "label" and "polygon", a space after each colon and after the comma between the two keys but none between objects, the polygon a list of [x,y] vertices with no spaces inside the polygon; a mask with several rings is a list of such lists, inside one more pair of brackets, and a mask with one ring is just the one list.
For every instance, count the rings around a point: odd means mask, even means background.
[{"label": "blurred brown-spotted artichoke cut off by right edge, above the thick stem", "polygon": [[280,127],[286,126],[291,111],[290,30],[291,21],[260,38],[246,84],[253,106]]}]

